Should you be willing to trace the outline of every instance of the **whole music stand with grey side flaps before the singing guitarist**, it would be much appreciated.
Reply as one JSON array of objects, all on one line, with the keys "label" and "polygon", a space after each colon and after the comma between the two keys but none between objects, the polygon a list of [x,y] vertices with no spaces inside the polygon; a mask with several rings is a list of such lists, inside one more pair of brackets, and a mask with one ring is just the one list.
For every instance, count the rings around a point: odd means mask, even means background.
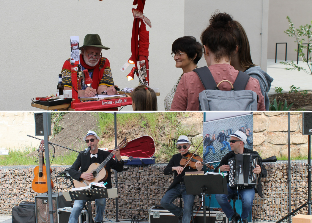
[{"label": "whole music stand with grey side flaps before the singing guitarist", "polygon": [[89,223],[93,223],[91,201],[101,198],[117,197],[117,188],[97,188],[63,192],[66,201],[87,200]]}]

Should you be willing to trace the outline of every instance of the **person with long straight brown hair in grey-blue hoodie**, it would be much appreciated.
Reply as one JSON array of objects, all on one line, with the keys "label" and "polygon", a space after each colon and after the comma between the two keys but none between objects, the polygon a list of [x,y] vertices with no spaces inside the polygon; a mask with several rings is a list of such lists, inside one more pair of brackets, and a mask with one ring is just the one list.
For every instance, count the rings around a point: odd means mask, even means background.
[{"label": "person with long straight brown hair in grey-blue hoodie", "polygon": [[234,33],[237,38],[238,50],[231,59],[231,65],[239,71],[245,72],[250,77],[256,78],[259,81],[261,93],[264,96],[266,110],[270,110],[270,101],[268,92],[271,88],[273,78],[261,69],[260,66],[255,65],[251,60],[250,46],[248,37],[241,23],[233,20],[235,24]]}]

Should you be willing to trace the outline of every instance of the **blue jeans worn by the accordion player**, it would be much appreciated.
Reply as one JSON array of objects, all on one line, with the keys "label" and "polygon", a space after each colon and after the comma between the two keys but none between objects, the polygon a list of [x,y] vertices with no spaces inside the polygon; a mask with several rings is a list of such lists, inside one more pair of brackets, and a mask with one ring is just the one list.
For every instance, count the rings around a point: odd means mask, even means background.
[{"label": "blue jeans worn by the accordion player", "polygon": [[[233,208],[229,202],[229,199],[235,194],[237,195],[237,189],[231,189],[229,184],[227,184],[228,195],[226,194],[216,194],[216,200],[218,201],[222,211],[224,211],[227,218],[234,215]],[[241,196],[241,219],[247,219],[249,212],[252,208],[253,199],[255,197],[255,189],[246,188],[239,189],[238,194]]]}]

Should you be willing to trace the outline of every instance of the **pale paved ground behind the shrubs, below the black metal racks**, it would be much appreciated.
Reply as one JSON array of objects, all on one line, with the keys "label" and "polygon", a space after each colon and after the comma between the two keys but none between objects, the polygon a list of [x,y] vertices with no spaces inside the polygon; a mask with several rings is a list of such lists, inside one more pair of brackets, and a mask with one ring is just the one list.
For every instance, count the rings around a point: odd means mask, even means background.
[{"label": "pale paved ground behind the shrubs, below the black metal racks", "polygon": [[[285,66],[280,64],[283,60],[277,60],[275,63],[274,59],[267,60],[267,73],[274,78],[271,83],[271,89],[269,93],[275,92],[274,87],[281,87],[284,91],[288,92],[291,85],[300,87],[299,90],[310,90],[312,91],[312,75],[305,73],[304,71],[298,72],[297,70],[285,70]],[[287,61],[291,62],[291,61]],[[297,61],[294,61],[297,63]],[[304,62],[299,61],[298,66],[305,67],[308,71],[308,65]]]}]

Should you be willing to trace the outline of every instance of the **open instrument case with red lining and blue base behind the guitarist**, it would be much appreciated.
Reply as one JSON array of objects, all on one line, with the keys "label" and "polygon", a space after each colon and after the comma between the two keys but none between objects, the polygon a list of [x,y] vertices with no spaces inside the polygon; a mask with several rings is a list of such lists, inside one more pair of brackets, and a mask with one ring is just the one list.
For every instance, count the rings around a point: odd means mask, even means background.
[{"label": "open instrument case with red lining and blue base behind the guitarist", "polygon": [[[108,150],[112,152],[113,150]],[[132,156],[134,158],[124,160],[124,165],[143,165],[154,164],[155,143],[150,136],[141,136],[128,142],[127,146],[120,149],[121,156]],[[115,158],[115,156],[113,156]]]}]

